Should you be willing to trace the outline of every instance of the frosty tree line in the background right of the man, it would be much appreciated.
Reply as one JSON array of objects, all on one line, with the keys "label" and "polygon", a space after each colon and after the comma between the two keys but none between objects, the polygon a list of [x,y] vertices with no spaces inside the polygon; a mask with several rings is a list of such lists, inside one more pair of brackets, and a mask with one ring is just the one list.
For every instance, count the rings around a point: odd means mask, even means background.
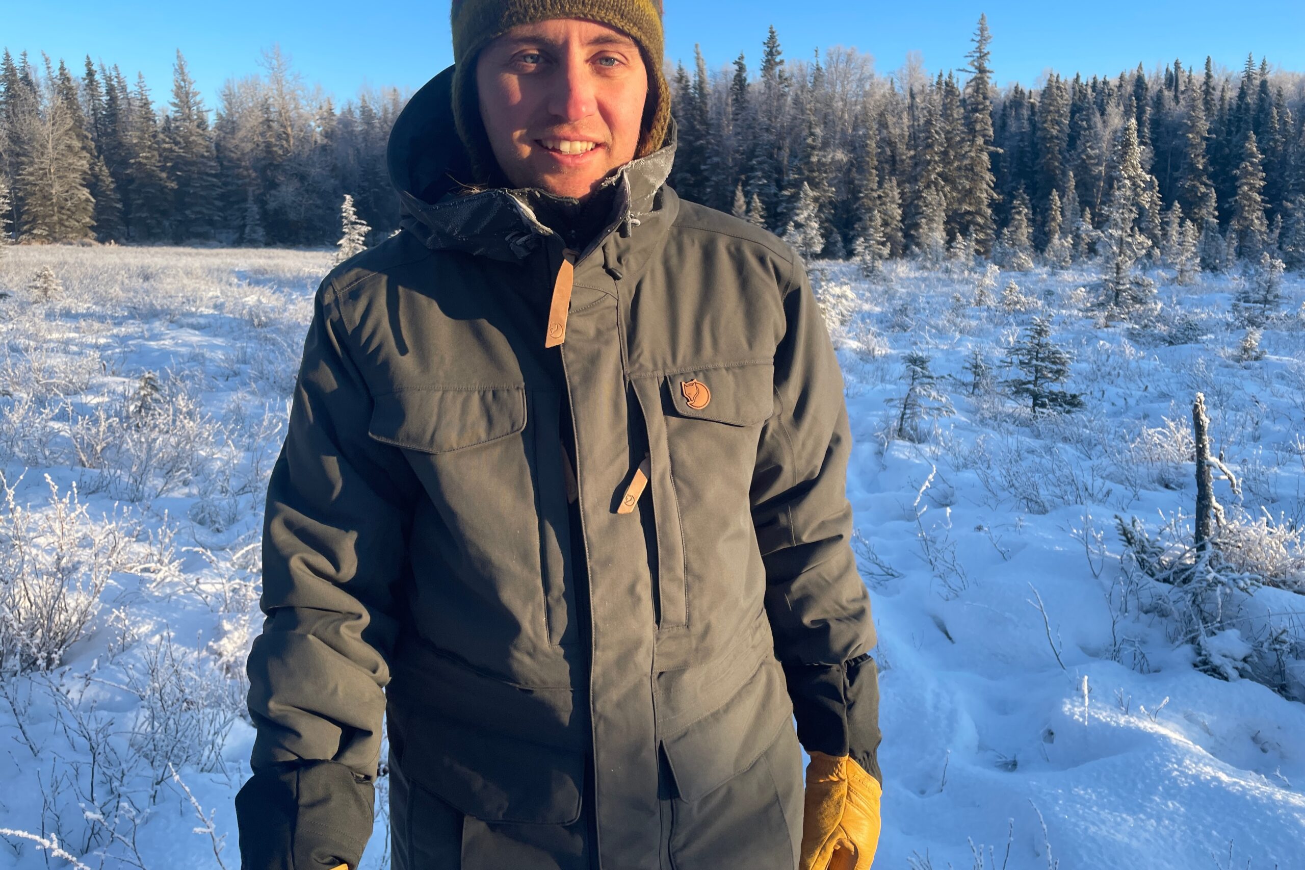
[{"label": "frosty tree line in the background right of the man", "polygon": [[786,63],[774,27],[756,76],[743,54],[713,73],[696,52],[673,78],[672,183],[808,256],[1305,268],[1300,73],[1206,57],[1000,90],[990,43],[981,17],[968,65],[932,77],[850,48]]}]

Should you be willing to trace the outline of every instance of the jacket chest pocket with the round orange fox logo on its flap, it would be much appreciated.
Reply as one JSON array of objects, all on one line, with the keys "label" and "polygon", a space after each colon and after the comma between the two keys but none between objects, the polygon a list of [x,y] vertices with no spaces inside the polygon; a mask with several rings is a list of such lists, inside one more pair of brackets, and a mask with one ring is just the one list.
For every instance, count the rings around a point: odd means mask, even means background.
[{"label": "jacket chest pocket with the round orange fox logo on its flap", "polygon": [[681,628],[693,601],[711,607],[716,596],[740,592],[756,550],[748,491],[774,410],[774,364],[706,366],[632,383],[649,432],[658,627]]}]

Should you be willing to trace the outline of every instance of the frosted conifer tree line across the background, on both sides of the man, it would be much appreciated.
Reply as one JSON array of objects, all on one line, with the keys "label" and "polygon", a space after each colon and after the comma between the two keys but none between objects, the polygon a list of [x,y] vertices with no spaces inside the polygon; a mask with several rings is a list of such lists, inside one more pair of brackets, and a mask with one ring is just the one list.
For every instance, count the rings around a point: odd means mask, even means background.
[{"label": "frosted conifer tree line across the background, on both sides of the man", "polygon": [[[967,65],[933,76],[915,57],[880,74],[852,48],[790,61],[774,27],[756,71],[740,54],[711,72],[696,52],[672,74],[672,184],[806,256],[1305,268],[1300,73],[1206,57],[998,89],[990,44],[980,18]],[[42,71],[0,56],[0,235],[330,244],[345,195],[373,238],[398,226],[395,89],[337,110],[273,50],[265,74],[223,85],[210,124],[180,51],[167,110],[141,76],[87,56],[74,77],[42,56]]]}]

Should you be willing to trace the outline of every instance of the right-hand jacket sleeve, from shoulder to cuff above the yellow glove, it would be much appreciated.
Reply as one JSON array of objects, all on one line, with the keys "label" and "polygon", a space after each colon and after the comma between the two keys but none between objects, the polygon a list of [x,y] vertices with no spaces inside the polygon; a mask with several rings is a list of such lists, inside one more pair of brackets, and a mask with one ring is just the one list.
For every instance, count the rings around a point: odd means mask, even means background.
[{"label": "right-hand jacket sleeve, from shoulder to cuff above the yellow glove", "polygon": [[752,513],[766,611],[808,751],[851,755],[881,780],[874,623],[851,547],[843,375],[801,260],[783,289],[775,413],[762,428]]}]

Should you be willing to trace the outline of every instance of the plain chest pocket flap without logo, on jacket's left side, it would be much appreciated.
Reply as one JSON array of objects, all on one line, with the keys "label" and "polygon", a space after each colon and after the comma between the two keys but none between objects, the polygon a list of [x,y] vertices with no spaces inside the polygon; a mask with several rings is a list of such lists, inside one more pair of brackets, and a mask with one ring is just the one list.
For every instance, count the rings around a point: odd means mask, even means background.
[{"label": "plain chest pocket flap without logo, on jacket's left side", "polygon": [[376,396],[368,434],[424,453],[448,453],[526,428],[526,388],[414,388]]}]

